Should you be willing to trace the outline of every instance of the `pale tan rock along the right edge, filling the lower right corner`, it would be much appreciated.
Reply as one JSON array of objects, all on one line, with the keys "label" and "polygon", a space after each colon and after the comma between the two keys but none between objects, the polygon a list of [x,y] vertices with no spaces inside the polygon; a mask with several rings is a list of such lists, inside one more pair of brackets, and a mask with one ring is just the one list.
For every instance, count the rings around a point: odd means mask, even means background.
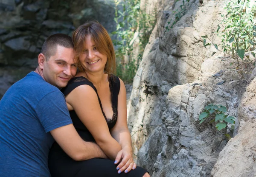
[{"label": "pale tan rock along the right edge, filling the lower right corner", "polygon": [[212,177],[254,177],[256,174],[255,71],[252,72],[239,104],[238,134],[221,151],[212,169]]}]

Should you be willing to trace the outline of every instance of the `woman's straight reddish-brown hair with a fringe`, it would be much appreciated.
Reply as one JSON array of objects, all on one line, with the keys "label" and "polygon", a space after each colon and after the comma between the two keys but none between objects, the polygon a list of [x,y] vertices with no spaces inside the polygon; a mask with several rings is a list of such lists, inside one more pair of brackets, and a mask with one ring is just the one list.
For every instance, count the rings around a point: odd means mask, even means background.
[{"label": "woman's straight reddish-brown hair with a fringe", "polygon": [[95,43],[97,50],[105,54],[108,59],[104,68],[107,74],[113,74],[116,70],[116,57],[113,44],[108,31],[97,21],[90,21],[76,28],[73,33],[72,40],[74,43],[74,50],[76,52],[75,62],[78,63],[79,71],[83,71],[83,67],[79,61],[79,56],[83,52],[85,38],[90,35]]}]

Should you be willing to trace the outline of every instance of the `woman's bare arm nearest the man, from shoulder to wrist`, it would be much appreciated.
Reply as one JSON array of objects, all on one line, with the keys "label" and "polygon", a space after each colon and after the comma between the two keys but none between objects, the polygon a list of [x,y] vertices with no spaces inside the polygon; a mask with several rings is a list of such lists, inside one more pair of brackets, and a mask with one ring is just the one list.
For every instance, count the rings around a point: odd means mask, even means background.
[{"label": "woman's bare arm nearest the man, from shoulder to wrist", "polygon": [[93,135],[102,151],[112,160],[116,158],[121,146],[111,136],[108,124],[102,114],[96,92],[89,85],[80,85],[66,96],[79,119]]}]

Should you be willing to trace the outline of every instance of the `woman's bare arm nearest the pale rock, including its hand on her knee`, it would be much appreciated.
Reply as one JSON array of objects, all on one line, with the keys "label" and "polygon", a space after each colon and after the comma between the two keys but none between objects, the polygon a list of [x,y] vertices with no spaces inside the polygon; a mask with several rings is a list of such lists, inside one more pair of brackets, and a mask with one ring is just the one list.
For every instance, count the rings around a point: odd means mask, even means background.
[{"label": "woman's bare arm nearest the pale rock, including its hand on her knee", "polygon": [[133,153],[131,148],[131,134],[127,126],[127,109],[126,109],[126,90],[125,84],[120,79],[120,91],[118,94],[118,117],[116,125],[111,129],[111,135],[121,145],[122,151],[120,151],[116,157],[117,163],[122,161],[117,166],[121,171],[130,171],[136,168],[136,164],[133,160]]}]

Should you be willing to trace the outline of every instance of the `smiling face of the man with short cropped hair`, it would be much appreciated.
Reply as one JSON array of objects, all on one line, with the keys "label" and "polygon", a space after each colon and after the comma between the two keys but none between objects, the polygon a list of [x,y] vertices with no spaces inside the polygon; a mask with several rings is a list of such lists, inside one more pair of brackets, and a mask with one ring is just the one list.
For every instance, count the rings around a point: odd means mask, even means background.
[{"label": "smiling face of the man with short cropped hair", "polygon": [[66,87],[68,81],[76,75],[73,48],[57,45],[55,55],[44,61],[43,75],[45,81],[55,87]]}]

